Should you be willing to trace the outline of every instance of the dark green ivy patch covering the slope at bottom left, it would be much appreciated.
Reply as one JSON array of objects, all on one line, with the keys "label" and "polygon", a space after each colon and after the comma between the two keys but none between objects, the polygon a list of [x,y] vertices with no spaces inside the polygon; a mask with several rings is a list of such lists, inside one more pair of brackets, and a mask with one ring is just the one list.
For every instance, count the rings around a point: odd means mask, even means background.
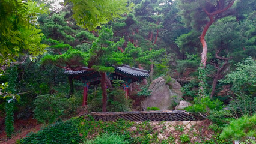
[{"label": "dark green ivy patch covering the slope at bottom left", "polygon": [[49,125],[42,128],[37,133],[30,133],[28,137],[18,140],[20,144],[39,144],[39,143],[79,143],[81,136],[79,136],[78,128],[74,121],[56,122],[56,124]]}]

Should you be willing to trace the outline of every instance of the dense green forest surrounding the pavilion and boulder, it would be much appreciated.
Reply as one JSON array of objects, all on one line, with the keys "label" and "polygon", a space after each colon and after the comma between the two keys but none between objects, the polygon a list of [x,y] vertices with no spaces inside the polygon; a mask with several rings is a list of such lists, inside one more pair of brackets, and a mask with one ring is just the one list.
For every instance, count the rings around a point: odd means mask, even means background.
[{"label": "dense green forest surrounding the pavilion and boulder", "polygon": [[[157,77],[189,80],[182,88],[183,98],[195,104],[190,111],[204,116],[209,116],[210,110],[198,101],[207,101],[207,97],[223,105],[251,101],[251,109],[246,109],[249,105],[243,107],[249,115],[255,112],[255,1],[98,2],[105,7],[96,10],[89,1],[87,5],[66,1],[61,7],[54,7],[52,2],[28,1],[24,6],[21,1],[1,1],[0,94],[4,99],[0,100],[0,121],[4,125],[7,118],[7,136],[8,130],[14,130],[14,119],[35,118],[48,124],[76,115],[83,85],[69,79],[64,70],[83,67],[102,76],[113,71],[109,65],[129,64],[150,70],[150,77],[139,85],[139,95],[144,96],[150,95],[148,84]],[[13,11],[15,8],[19,11]],[[210,13],[218,10],[223,11],[213,15],[213,22],[208,24]],[[102,17],[81,18],[81,13]],[[207,25],[207,59],[202,62],[204,44],[200,40]],[[112,84],[115,87],[118,82]],[[218,95],[224,85],[231,85],[230,95]],[[131,101],[111,99],[123,91],[105,87],[90,88],[89,111],[132,108]],[[102,104],[102,93],[108,103]],[[14,118],[8,118],[13,112]]]}]

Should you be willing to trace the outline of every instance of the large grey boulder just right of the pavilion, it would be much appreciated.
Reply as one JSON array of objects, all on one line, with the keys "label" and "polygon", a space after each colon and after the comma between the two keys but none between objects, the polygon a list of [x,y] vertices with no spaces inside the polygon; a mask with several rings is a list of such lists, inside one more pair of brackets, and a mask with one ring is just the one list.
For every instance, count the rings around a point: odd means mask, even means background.
[{"label": "large grey boulder just right of the pavilion", "polygon": [[151,91],[151,95],[141,102],[142,109],[147,110],[147,107],[159,107],[160,110],[172,110],[182,98],[180,88],[180,83],[175,79],[168,83],[163,77],[153,80],[148,88],[148,91]]}]

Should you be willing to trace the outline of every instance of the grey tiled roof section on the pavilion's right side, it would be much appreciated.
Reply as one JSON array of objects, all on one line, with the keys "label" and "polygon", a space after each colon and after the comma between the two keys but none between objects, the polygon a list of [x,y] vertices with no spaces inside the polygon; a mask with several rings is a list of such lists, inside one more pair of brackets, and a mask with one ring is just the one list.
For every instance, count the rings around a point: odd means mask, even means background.
[{"label": "grey tiled roof section on the pavilion's right side", "polygon": [[130,74],[132,76],[141,76],[148,77],[149,74],[147,70],[141,70],[139,68],[130,67],[129,65],[123,65],[121,67],[116,67],[117,70],[122,71],[123,73]]}]

